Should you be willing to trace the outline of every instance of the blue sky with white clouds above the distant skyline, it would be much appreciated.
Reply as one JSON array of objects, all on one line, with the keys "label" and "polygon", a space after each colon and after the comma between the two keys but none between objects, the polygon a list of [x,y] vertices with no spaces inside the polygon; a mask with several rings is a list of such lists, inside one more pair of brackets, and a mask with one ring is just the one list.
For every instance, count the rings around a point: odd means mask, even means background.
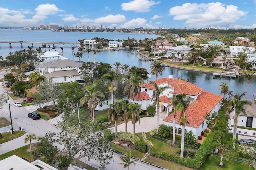
[{"label": "blue sky with white clouds above the distant skyline", "polygon": [[256,0],[0,0],[0,27],[256,28]]}]

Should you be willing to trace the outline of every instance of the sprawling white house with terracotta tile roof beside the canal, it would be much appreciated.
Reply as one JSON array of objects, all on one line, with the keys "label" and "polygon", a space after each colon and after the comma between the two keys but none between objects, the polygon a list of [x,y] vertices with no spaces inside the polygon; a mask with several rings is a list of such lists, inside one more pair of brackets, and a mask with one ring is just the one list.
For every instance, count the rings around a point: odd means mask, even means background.
[{"label": "sprawling white house with terracotta tile roof beside the canal", "polygon": [[[188,119],[189,123],[186,124],[185,132],[192,130],[193,134],[196,136],[200,136],[200,133],[207,128],[204,116],[206,114],[213,116],[213,113],[218,113],[220,109],[222,96],[204,91],[204,89],[201,89],[197,85],[181,79],[172,78],[172,75],[169,75],[169,78],[162,77],[160,79],[156,79],[155,82],[159,87],[171,87],[160,95],[159,110],[160,112],[166,111],[167,117],[165,117],[163,120],[166,125],[173,126],[173,114],[168,116],[168,113],[172,111],[173,106],[170,105],[170,107],[167,107],[169,104],[171,104],[171,98],[173,95],[181,95],[185,93],[186,97],[192,97],[194,99],[194,102],[191,103],[186,110],[186,118]],[[150,104],[152,105],[154,102],[151,101],[153,93],[154,86],[152,84],[146,83],[141,85],[141,93],[140,96],[136,96],[135,103],[142,105],[141,109],[146,110],[146,107]],[[181,134],[182,126],[180,126],[180,116],[181,112],[178,111],[175,125],[178,129],[176,130],[177,134]]]}]

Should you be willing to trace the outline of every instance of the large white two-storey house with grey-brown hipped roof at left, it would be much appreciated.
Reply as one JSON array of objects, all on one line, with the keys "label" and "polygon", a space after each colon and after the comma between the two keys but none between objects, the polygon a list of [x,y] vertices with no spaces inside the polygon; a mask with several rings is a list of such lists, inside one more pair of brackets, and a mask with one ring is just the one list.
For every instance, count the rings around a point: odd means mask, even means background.
[{"label": "large white two-storey house with grey-brown hipped roof at left", "polygon": [[56,83],[80,81],[80,68],[83,61],[72,61],[70,59],[53,59],[46,60],[38,64],[40,75],[43,75],[47,80],[52,80]]}]

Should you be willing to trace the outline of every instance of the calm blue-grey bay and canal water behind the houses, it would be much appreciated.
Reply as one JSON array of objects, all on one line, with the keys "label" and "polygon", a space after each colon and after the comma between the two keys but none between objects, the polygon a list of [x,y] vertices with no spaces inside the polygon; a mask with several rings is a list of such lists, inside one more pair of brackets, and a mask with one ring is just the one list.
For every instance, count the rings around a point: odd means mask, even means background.
[{"label": "calm blue-grey bay and canal water behind the houses", "polygon": [[[36,42],[78,42],[79,39],[92,39],[94,37],[98,38],[107,38],[117,40],[127,40],[127,38],[134,38],[136,40],[143,40],[144,38],[156,38],[157,35],[154,34],[128,34],[128,33],[95,33],[95,32],[52,32],[50,30],[0,30],[0,41],[36,41]],[[21,50],[20,44],[12,44],[12,48],[9,48],[8,43],[0,44],[0,55],[6,56],[10,51]],[[31,44],[23,44],[23,48],[30,46]],[[34,47],[38,47],[42,44],[34,44]],[[50,44],[52,47],[52,44]],[[55,44],[56,51],[61,51],[60,44]],[[72,50],[70,48],[72,45],[65,45],[63,56],[72,59]],[[74,50],[76,52],[78,48]],[[53,50],[53,49],[52,49]],[[122,64],[130,64],[130,66],[143,67],[148,69],[150,62],[138,59],[131,50],[117,50],[117,51],[97,51],[96,52],[96,61],[110,63],[113,65],[115,61],[120,61]],[[84,53],[82,61],[88,61],[88,53]],[[90,61],[94,60],[94,53],[90,52]],[[228,84],[230,91],[233,93],[242,93],[247,91],[247,80],[244,76],[241,76],[236,79],[214,79],[214,76],[209,73],[201,73],[195,71],[186,71],[175,68],[166,67],[163,72],[163,75],[160,77],[168,77],[169,74],[172,74],[174,78],[182,77],[184,79],[190,79],[190,83],[194,83],[199,87],[210,91],[212,93],[220,94],[219,85],[221,82]],[[150,80],[154,80],[155,77],[152,76]],[[248,89],[248,99],[253,99],[252,93],[256,93],[256,77],[254,76],[249,85]]]}]

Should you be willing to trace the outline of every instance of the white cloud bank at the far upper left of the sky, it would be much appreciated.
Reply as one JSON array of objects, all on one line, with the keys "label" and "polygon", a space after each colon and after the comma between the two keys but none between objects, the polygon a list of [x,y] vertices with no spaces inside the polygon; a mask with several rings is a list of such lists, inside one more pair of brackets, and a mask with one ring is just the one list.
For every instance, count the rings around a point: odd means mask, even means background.
[{"label": "white cloud bank at the far upper left of the sky", "polygon": [[56,7],[55,4],[41,4],[35,9],[36,14],[32,18],[27,18],[24,14],[33,14],[30,10],[9,10],[8,8],[0,8],[1,26],[6,27],[22,27],[43,24],[44,19],[48,15],[64,12]]}]

